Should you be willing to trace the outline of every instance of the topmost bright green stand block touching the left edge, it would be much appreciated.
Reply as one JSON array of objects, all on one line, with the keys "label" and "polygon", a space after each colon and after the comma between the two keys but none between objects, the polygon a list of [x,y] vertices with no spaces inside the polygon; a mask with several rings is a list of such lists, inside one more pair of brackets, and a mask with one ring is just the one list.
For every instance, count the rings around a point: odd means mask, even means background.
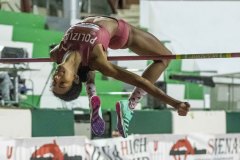
[{"label": "topmost bright green stand block touching the left edge", "polygon": [[0,23],[25,28],[44,29],[46,18],[39,15],[0,11]]}]

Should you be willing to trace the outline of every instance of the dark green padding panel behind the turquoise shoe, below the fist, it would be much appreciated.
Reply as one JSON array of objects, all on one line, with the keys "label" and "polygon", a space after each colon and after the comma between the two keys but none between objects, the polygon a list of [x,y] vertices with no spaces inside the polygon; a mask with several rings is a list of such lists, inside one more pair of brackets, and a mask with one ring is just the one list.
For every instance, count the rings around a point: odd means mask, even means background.
[{"label": "dark green padding panel behind the turquoise shoe, below the fist", "polygon": [[[116,128],[116,112],[111,112],[111,127]],[[135,111],[129,134],[172,133],[172,114],[168,110]]]}]

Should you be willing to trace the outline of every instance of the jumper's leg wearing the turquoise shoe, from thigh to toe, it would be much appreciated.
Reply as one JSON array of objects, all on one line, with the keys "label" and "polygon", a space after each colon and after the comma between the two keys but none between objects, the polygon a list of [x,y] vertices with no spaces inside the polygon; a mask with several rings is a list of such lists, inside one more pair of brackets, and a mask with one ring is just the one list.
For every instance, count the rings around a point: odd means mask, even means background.
[{"label": "jumper's leg wearing the turquoise shoe, from thigh to toe", "polygon": [[[130,26],[130,25],[129,25]],[[130,26],[129,39],[126,46],[138,55],[169,55],[171,52],[152,34]],[[142,76],[154,83],[168,66],[169,60],[153,61]],[[129,101],[119,101],[116,104],[117,127],[121,135],[128,136],[128,127],[132,119],[133,109],[146,94],[141,88],[135,88]]]}]

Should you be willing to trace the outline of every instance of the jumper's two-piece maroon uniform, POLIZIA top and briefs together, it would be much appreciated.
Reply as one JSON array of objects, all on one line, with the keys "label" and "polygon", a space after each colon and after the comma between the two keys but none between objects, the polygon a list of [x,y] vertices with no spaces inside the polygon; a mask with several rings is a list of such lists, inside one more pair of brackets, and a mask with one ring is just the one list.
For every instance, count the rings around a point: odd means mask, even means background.
[{"label": "jumper's two-piece maroon uniform, POLIZIA top and briefs together", "polygon": [[[112,18],[114,19],[114,18]],[[118,28],[111,38],[110,33],[103,27],[94,23],[81,22],[70,27],[65,33],[59,48],[51,54],[57,55],[57,63],[61,63],[64,54],[70,50],[77,50],[81,54],[82,66],[88,66],[89,54],[97,44],[102,44],[103,49],[121,49],[125,46],[129,36],[130,27],[123,20],[117,20]]]}]

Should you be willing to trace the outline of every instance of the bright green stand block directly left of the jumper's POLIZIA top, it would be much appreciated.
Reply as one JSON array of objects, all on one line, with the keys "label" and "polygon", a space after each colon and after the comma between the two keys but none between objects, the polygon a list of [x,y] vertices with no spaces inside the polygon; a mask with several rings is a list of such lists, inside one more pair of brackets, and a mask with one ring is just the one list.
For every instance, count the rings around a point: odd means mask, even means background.
[{"label": "bright green stand block directly left of the jumper's POLIZIA top", "polygon": [[53,43],[59,43],[63,34],[63,32],[58,31],[14,27],[13,41],[41,43],[48,46]]}]

